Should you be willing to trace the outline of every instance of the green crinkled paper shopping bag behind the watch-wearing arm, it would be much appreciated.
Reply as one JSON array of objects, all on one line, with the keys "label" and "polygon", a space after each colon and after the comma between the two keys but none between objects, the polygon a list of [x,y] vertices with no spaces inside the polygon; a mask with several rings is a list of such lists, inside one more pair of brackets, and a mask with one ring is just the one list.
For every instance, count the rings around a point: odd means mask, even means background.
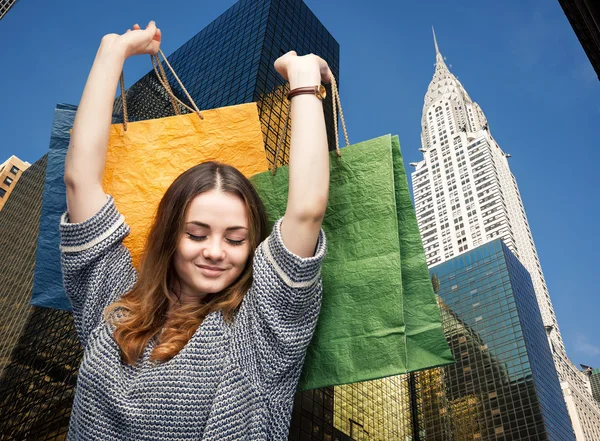
[{"label": "green crinkled paper shopping bag behind the watch-wearing arm", "polygon": [[[373,380],[452,363],[412,207],[398,137],[330,157],[323,222],[323,303],[299,389]],[[252,177],[274,222],[288,167]]]}]

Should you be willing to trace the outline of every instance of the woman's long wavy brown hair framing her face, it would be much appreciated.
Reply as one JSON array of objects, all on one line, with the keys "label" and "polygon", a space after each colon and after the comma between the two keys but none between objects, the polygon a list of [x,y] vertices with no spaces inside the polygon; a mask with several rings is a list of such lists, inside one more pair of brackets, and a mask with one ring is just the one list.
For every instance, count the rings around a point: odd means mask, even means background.
[{"label": "woman's long wavy brown hair framing her face", "polygon": [[[178,277],[173,258],[185,224],[188,204],[210,190],[231,193],[246,206],[250,255],[240,276],[223,291],[205,297],[197,305],[169,310],[178,303]],[[202,320],[221,310],[231,321],[252,284],[252,260],[256,247],[268,233],[265,209],[256,190],[237,169],[218,162],[205,162],[182,173],[163,196],[148,234],[137,283],[110,305],[106,320],[115,325],[114,338],[123,361],[134,365],[148,342],[158,337],[151,359],[168,361],[189,341]]]}]

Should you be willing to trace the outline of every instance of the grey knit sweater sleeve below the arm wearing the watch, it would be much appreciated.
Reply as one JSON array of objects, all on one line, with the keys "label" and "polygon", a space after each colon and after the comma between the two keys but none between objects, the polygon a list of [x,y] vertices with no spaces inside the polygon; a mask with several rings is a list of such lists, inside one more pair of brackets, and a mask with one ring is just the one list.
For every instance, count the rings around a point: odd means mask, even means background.
[{"label": "grey knit sweater sleeve below the arm wearing the watch", "polygon": [[233,355],[252,381],[277,402],[295,392],[321,309],[321,230],[313,257],[289,251],[281,219],[254,256],[254,282],[236,318]]}]

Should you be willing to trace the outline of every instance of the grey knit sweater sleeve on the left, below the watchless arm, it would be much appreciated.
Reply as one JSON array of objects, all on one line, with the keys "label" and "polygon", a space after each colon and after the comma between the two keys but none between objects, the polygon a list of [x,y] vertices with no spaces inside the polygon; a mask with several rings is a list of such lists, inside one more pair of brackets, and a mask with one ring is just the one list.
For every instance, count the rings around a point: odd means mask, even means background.
[{"label": "grey knit sweater sleeve on the left, below the watchless arm", "polygon": [[103,321],[104,308],[129,291],[136,271],[123,239],[129,227],[112,197],[90,219],[60,222],[63,284],[75,316],[75,326],[85,347],[90,333]]}]

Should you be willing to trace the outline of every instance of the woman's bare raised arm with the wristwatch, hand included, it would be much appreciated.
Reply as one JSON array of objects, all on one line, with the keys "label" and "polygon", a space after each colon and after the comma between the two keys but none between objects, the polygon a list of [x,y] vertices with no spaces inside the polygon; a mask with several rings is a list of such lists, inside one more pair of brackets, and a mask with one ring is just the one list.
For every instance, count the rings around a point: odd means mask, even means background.
[{"label": "woman's bare raised arm with the wristwatch, hand included", "polygon": [[[316,55],[288,52],[275,69],[290,82],[290,90],[328,83],[331,71]],[[311,257],[321,230],[329,195],[329,152],[323,103],[316,95],[298,95],[291,103],[290,187],[281,224],[286,248]]]}]

